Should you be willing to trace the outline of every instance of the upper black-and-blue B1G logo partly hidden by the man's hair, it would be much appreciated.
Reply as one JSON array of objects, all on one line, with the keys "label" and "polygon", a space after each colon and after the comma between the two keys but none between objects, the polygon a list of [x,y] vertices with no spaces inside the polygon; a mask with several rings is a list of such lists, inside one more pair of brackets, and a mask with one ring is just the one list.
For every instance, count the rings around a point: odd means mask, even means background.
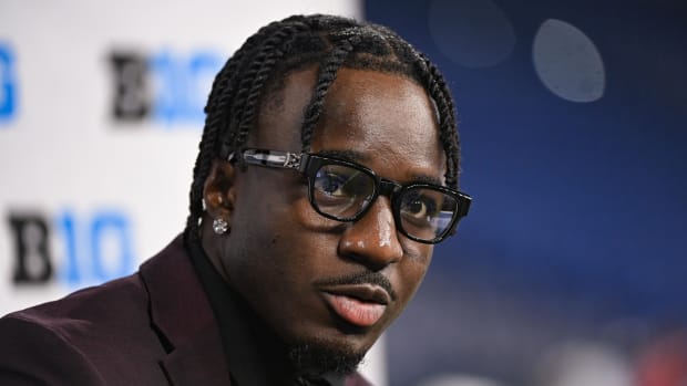
[{"label": "upper black-and-blue B1G logo partly hidden by the man's hair", "polygon": [[219,55],[206,51],[187,55],[113,52],[112,116],[126,122],[152,119],[165,126],[202,123],[203,107],[222,64]]}]

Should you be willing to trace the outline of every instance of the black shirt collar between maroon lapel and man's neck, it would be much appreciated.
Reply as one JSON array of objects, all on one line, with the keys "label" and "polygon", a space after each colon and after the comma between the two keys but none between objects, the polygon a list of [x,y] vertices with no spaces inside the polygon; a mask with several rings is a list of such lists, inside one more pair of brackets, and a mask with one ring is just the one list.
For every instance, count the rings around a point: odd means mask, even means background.
[{"label": "black shirt collar between maroon lapel and man's neck", "polygon": [[[213,309],[233,385],[283,385],[285,347],[238,293],[229,288],[198,242],[185,234],[186,249]],[[329,378],[329,377],[328,377]],[[310,385],[310,383],[303,383]],[[311,385],[338,386],[344,379],[317,380]]]}]

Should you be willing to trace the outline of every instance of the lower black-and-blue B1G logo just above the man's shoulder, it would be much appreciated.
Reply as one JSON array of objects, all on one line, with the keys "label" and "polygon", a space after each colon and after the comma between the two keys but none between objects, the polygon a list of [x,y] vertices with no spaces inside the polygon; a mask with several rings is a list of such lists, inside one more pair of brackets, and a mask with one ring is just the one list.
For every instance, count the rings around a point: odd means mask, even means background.
[{"label": "lower black-and-blue B1G logo just above the man's shoulder", "polygon": [[[64,210],[52,218],[39,212],[13,212],[7,217],[13,243],[16,284],[41,284],[60,280],[70,285],[100,283],[134,271],[131,225],[124,213],[99,210],[78,217]],[[61,265],[50,241],[62,246]]]}]

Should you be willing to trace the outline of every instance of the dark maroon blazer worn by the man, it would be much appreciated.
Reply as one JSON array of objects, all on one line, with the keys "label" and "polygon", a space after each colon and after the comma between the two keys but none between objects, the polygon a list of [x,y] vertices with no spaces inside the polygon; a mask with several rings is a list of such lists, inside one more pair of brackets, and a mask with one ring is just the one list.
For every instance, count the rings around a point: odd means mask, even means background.
[{"label": "dark maroon blazer worn by the man", "polygon": [[230,385],[189,259],[178,237],[137,273],[0,319],[0,385]]}]

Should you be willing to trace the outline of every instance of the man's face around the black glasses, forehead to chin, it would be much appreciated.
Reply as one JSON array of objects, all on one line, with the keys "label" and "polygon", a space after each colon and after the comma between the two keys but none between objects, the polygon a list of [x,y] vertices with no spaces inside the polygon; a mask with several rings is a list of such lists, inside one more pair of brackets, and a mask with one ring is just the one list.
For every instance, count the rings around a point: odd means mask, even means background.
[{"label": "man's face around the black glasses, forehead to chin", "polygon": [[[265,103],[249,147],[300,150],[315,76],[312,70],[288,76]],[[443,181],[445,170],[424,90],[379,72],[338,72],[311,152],[346,152],[401,184]],[[250,166],[235,174],[234,189],[232,230],[219,249],[230,285],[288,345],[367,352],[418,289],[432,246],[397,232],[384,196],[358,221],[339,222],[312,209],[304,177],[294,170]]]}]

